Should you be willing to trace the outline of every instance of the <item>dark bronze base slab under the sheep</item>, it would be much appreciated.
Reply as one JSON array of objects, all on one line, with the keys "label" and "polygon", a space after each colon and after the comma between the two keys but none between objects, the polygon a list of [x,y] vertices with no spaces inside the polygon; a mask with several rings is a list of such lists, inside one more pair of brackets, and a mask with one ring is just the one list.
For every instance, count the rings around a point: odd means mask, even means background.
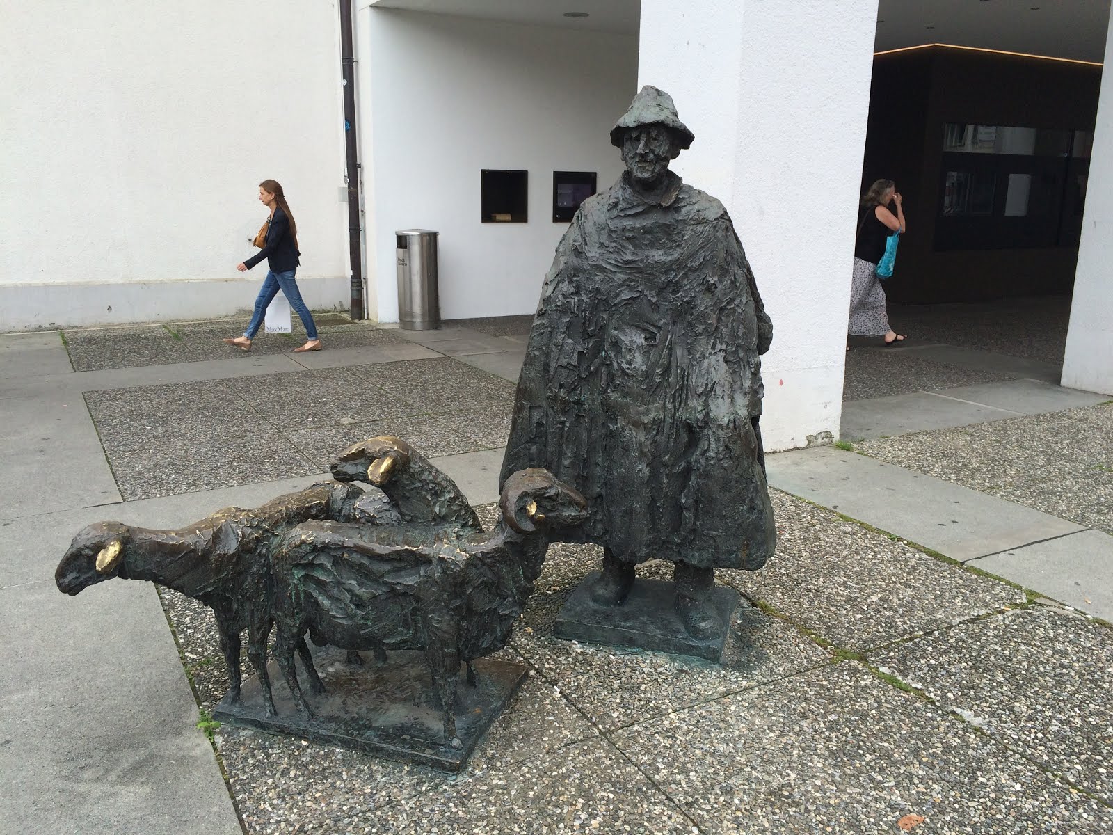
[{"label": "dark bronze base slab under the sheep", "polygon": [[372,652],[363,655],[364,666],[358,667],[344,660],[343,650],[313,648],[317,672],[325,682],[325,692],[319,696],[309,692],[302,662],[295,660],[302,691],[316,713],[312,719],[297,713],[273,660],[267,669],[277,716],[266,715],[263,690],[257,677],[252,676],[244,681],[239,704],[230,704],[225,696],[213,718],[457,773],[528,675],[522,665],[480,658],[474,662],[476,686],[472,687],[461,666],[455,706],[460,744],[454,747],[444,738],[441,700],[433,689],[424,654],[391,652],[385,664],[376,662]]}]

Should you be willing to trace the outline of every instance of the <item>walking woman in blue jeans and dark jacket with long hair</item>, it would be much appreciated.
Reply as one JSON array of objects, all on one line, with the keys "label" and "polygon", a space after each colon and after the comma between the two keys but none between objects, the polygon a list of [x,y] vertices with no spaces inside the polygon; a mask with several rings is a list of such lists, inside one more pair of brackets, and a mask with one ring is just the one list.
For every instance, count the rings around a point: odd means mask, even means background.
[{"label": "walking woman in blue jeans and dark jacket with long hair", "polygon": [[[252,323],[247,326],[243,336],[225,340],[228,345],[235,345],[240,351],[252,350],[252,340],[263,324],[267,305],[274,301],[280,289],[289,301],[289,306],[294,308],[305,325],[307,341],[304,345],[294,348],[294,353],[301,354],[305,351],[321,351],[321,340],[317,338],[317,326],[313,322],[309,308],[302,301],[302,294],[297,289],[297,282],[294,273],[297,272],[297,226],[294,223],[294,215],[286,205],[286,197],[283,195],[282,186],[273,179],[265,179],[259,184],[259,203],[270,209],[266,224],[255,238],[255,245],[263,248],[243,264],[237,264],[236,269],[245,273],[264,258],[267,259],[267,277],[259,288],[259,295],[255,297],[255,314]],[[259,238],[263,238],[262,240]]]}]

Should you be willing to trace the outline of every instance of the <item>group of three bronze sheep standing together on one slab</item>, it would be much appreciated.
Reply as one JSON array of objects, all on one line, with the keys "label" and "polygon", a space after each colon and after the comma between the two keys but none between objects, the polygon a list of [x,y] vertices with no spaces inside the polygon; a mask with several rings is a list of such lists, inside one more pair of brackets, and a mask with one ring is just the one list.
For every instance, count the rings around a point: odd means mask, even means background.
[{"label": "group of three bronze sheep standing together on one slab", "polygon": [[[501,519],[484,533],[456,484],[405,441],[390,435],[348,448],[335,481],[253,509],[225,508],[177,530],[97,522],[78,532],[55,572],[78,595],[104,580],[150,580],[213,610],[228,667],[228,700],[240,701],[240,632],[268,717],[275,703],[266,666],[275,657],[299,710],[312,715],[294,666],[324,692],[306,637],[318,646],[423,652],[443,709],[446,740],[459,746],[460,666],[502,649],[533,592],[546,534],[580,523],[587,505],[545,470],[512,474]],[[373,485],[365,491],[349,483]]]}]

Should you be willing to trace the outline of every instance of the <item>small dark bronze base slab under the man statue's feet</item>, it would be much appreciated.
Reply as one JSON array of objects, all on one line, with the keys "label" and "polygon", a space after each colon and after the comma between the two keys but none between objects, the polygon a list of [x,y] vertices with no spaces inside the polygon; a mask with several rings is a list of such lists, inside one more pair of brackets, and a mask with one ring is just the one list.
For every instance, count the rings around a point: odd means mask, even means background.
[{"label": "small dark bronze base slab under the man statue's feet", "polygon": [[598,577],[598,571],[588,574],[560,610],[553,626],[553,635],[558,638],[637,647],[722,662],[722,650],[738,607],[737,591],[723,586],[715,588],[711,600],[722,632],[710,640],[699,641],[688,633],[672,608],[674,589],[671,582],[638,578],[622,606],[604,607],[593,603],[589,595],[591,583]]}]

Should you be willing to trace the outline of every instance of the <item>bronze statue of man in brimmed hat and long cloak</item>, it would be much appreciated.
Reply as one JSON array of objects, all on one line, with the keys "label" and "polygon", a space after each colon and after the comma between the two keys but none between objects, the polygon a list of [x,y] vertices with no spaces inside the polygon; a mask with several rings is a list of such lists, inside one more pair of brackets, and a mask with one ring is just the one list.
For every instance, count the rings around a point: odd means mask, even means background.
[{"label": "bronze statue of man in brimmed hat and long cloak", "polygon": [[556,538],[603,547],[597,605],[670,560],[676,611],[707,639],[728,626],[713,569],[758,569],[776,543],[758,431],[772,324],[722,204],[669,170],[693,138],[649,86],[611,130],[627,170],[556,248],[502,478],[543,466],[587,498]]}]

